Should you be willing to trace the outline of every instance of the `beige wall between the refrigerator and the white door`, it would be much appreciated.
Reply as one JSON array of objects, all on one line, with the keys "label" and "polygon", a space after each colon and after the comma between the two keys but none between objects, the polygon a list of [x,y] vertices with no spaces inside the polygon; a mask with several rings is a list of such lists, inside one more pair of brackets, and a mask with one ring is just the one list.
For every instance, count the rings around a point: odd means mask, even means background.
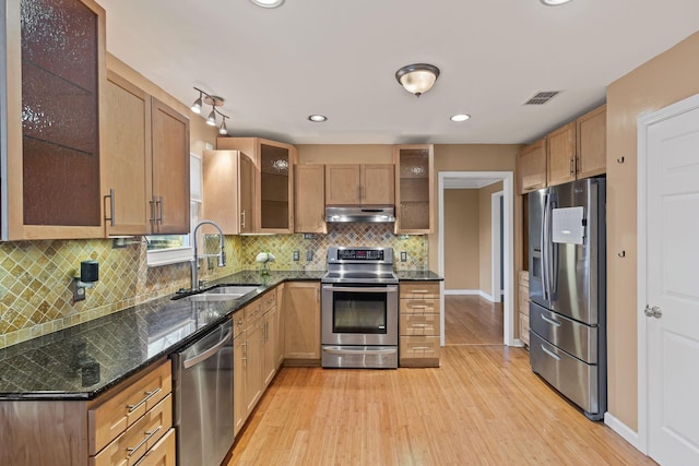
[{"label": "beige wall between the refrigerator and the white door", "polygon": [[[637,121],[699,93],[699,33],[607,87],[609,413],[638,429]],[[625,158],[624,164],[616,160]],[[626,251],[624,259],[617,254]]]}]

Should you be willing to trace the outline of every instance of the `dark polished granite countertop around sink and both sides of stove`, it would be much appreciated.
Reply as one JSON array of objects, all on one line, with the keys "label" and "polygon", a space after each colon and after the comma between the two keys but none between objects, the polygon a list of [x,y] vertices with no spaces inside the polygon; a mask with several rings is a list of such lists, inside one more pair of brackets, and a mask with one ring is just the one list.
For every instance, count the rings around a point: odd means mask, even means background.
[{"label": "dark polished granite countertop around sink and both sides of stove", "polygon": [[[324,271],[244,271],[209,284],[259,285],[230,301],[154,299],[94,321],[0,349],[0,401],[93,399],[128,377],[199,339],[266,290],[286,280],[320,280]],[[441,280],[429,271],[400,280]],[[96,366],[98,365],[98,370]]]}]

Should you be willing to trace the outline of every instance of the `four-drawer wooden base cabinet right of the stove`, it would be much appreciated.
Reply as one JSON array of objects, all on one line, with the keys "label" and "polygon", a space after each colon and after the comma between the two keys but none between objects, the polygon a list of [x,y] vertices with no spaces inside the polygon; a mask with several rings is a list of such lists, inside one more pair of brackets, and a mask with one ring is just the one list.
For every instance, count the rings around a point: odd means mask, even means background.
[{"label": "four-drawer wooden base cabinet right of the stove", "polygon": [[401,282],[399,366],[438,368],[439,282]]}]

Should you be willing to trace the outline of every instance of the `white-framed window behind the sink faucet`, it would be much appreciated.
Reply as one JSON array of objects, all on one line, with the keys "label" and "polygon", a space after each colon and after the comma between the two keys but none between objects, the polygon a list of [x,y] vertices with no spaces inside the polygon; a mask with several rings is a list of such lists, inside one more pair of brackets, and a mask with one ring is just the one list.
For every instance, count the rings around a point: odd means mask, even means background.
[{"label": "white-framed window behind the sink faucet", "polygon": [[189,262],[192,260],[191,231],[201,218],[202,211],[202,177],[201,157],[189,154],[189,215],[190,234],[187,235],[149,235],[147,263],[149,267]]}]

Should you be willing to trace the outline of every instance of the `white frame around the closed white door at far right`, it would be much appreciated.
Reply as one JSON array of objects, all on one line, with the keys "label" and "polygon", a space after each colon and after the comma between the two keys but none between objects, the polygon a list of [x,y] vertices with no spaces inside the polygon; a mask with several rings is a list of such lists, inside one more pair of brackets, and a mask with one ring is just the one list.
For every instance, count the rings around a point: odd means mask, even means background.
[{"label": "white frame around the closed white door at far right", "polygon": [[638,327],[638,442],[636,447],[643,454],[648,454],[650,434],[648,425],[648,384],[650,382],[648,380],[648,319],[641,311],[648,302],[648,294],[645,292],[648,264],[648,199],[645,195],[645,187],[648,186],[648,159],[653,155],[649,153],[648,132],[653,124],[696,110],[697,108],[699,108],[699,94],[638,119],[638,266],[636,306]]}]

